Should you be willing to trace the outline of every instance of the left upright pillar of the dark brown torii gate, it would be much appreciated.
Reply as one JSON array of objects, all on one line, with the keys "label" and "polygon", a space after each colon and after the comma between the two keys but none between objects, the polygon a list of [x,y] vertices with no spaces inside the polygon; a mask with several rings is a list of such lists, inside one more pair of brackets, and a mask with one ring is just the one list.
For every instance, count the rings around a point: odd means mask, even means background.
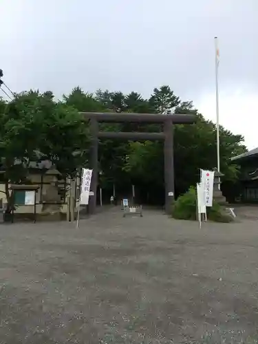
[{"label": "left upright pillar of the dark brown torii gate", "polygon": [[94,195],[89,196],[89,214],[94,214],[96,213],[98,186],[98,121],[95,118],[90,120],[90,134],[92,136],[92,142],[89,152],[89,169],[93,169],[90,191],[92,191]]}]

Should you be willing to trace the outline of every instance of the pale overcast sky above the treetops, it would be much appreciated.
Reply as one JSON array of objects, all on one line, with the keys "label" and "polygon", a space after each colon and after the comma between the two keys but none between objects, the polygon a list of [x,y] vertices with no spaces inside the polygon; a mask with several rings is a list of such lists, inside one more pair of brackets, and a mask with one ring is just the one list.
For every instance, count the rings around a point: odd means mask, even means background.
[{"label": "pale overcast sky above the treetops", "polygon": [[170,85],[258,147],[258,0],[0,0],[0,68],[14,91]]}]

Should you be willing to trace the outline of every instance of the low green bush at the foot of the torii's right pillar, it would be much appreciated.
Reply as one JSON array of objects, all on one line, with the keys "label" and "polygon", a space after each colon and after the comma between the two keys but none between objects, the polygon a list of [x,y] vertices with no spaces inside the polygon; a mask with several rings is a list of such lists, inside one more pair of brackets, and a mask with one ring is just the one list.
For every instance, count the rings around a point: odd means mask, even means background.
[{"label": "low green bush at the foot of the torii's right pillar", "polygon": [[[172,206],[172,217],[175,219],[196,219],[196,189],[191,186],[189,191],[178,197]],[[223,208],[213,201],[212,207],[207,207],[207,218],[214,222],[232,222],[233,218],[223,211]]]}]

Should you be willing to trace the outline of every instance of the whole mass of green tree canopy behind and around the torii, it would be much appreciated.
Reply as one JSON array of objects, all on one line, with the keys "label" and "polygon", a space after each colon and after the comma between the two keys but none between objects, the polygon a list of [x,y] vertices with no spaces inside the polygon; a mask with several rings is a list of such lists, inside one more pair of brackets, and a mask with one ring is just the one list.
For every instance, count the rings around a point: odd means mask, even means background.
[{"label": "whole mass of green tree canopy behind and around the torii", "polygon": [[[175,125],[174,161],[176,195],[199,180],[200,169],[217,165],[216,127],[198,113],[191,101],[182,101],[164,85],[153,89],[149,98],[138,92],[123,94],[98,89],[95,94],[75,87],[62,100],[52,92],[23,92],[6,102],[0,99],[0,157],[3,180],[17,183],[28,175],[30,162],[47,159],[65,175],[78,166],[88,166],[89,130],[79,111],[136,112],[140,114],[194,114],[195,125]],[[107,123],[107,131],[161,131],[160,125]],[[244,138],[219,127],[221,170],[224,180],[235,180],[238,167],[230,157],[246,151]],[[99,144],[100,184],[113,183],[125,189],[135,184],[143,193],[163,197],[162,142],[101,140]],[[90,167],[90,166],[89,166]],[[124,191],[123,191],[124,192]],[[148,196],[151,197],[151,196]]]}]

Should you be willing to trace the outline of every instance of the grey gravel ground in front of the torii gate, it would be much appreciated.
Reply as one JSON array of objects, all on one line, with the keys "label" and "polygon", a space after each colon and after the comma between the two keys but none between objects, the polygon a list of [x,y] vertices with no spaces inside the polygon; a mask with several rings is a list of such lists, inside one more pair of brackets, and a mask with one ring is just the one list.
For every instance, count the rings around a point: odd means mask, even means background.
[{"label": "grey gravel ground in front of the torii gate", "polygon": [[0,343],[257,343],[257,224],[2,224]]}]

